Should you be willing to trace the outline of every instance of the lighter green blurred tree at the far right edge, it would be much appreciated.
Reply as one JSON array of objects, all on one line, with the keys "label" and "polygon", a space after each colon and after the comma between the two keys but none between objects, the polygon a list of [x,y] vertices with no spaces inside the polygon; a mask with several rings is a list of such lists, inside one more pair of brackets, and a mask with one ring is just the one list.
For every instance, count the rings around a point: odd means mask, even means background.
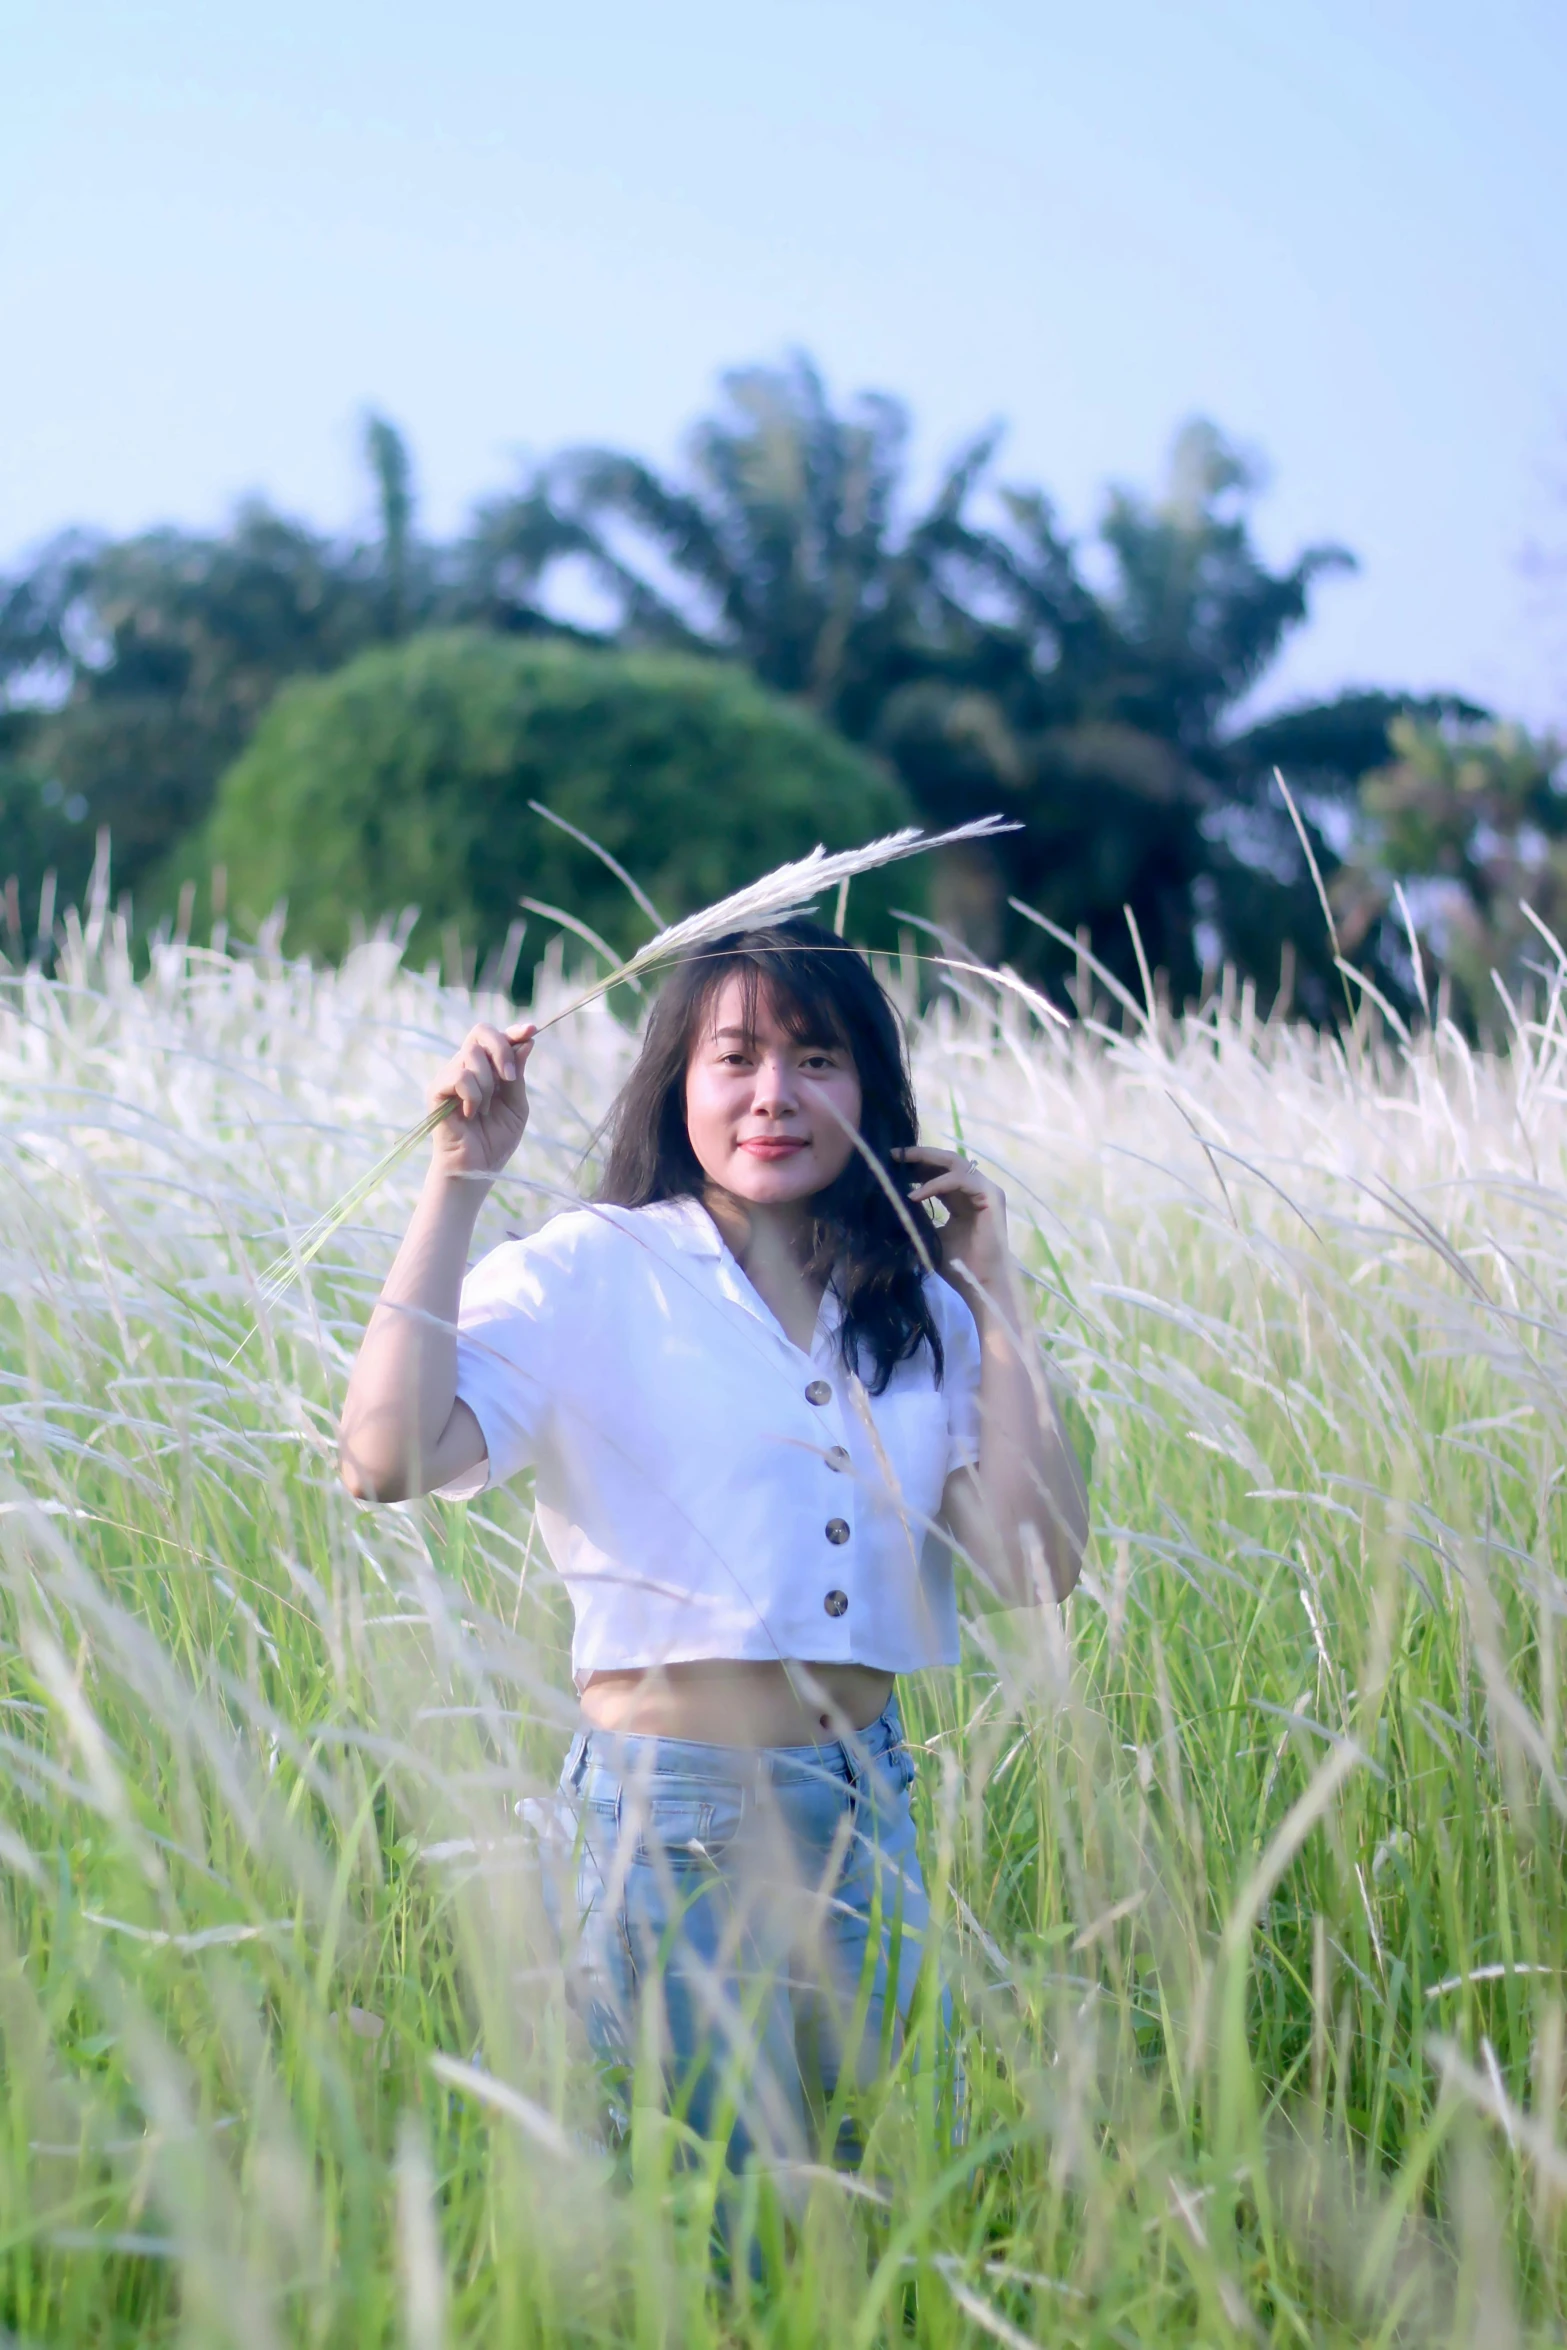
[{"label": "lighter green blurred tree at the far right edge", "polygon": [[[1360,783],[1353,855],[1332,900],[1344,952],[1419,994],[1414,945],[1435,959],[1452,1010],[1504,1027],[1497,980],[1518,996],[1551,966],[1525,905],[1567,940],[1567,776],[1562,747],[1518,726],[1398,717],[1393,759]],[[1403,907],[1398,905],[1403,891]]]}]

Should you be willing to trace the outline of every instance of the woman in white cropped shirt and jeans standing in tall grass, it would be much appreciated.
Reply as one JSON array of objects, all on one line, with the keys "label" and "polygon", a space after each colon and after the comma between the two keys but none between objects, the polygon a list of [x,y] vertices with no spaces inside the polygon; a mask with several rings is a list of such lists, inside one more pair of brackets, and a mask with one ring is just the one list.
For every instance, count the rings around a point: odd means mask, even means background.
[{"label": "woman in white cropped shirt and jeans standing in tall grass", "polygon": [[[698,2129],[803,2153],[900,2044],[926,1894],[895,1676],[956,1664],[956,1544],[1003,1605],[1088,1504],[1006,1201],[919,1142],[893,1006],[813,921],[679,964],[592,1206],[468,1276],[533,1029],[475,1027],[343,1408],[359,1499],[536,1469],[576,1607],[580,1965],[599,2054]],[[937,1224],[930,1203],[944,1208]],[[648,2042],[651,2035],[651,2042]]]}]

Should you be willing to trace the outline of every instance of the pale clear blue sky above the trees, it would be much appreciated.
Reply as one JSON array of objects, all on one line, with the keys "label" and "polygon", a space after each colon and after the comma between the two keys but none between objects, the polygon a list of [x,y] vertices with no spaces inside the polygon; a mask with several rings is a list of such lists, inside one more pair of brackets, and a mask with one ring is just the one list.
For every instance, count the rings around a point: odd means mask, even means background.
[{"label": "pale clear blue sky above the trees", "polygon": [[1567,724],[1565,120],[1560,0],[0,0],[0,562],[348,524],[366,402],[446,529],[806,345],[1074,526],[1210,414],[1363,559],[1266,703]]}]

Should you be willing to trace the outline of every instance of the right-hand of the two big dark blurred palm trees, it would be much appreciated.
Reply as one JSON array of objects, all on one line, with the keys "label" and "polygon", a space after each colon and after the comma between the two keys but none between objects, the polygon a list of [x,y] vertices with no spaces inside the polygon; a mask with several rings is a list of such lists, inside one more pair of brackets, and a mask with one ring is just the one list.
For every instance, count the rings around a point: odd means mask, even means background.
[{"label": "right-hand of the two big dark blurred palm trees", "polygon": [[980,804],[1022,820],[989,872],[966,877],[975,947],[1067,978],[1081,938],[1125,987],[1154,980],[1175,1001],[1210,961],[1236,961],[1264,994],[1283,966],[1311,1010],[1332,1008],[1332,947],[1271,768],[1311,754],[1297,808],[1332,872],[1325,804],[1353,801],[1405,703],[1360,696],[1231,728],[1316,583],[1353,564],[1318,545],[1271,571],[1250,536],[1255,489],[1255,465],[1193,421],[1156,498],[1111,496],[1097,583],[1038,491],[1003,491],[966,550],[984,620],[956,667],[890,696],[879,740],[942,822]]}]

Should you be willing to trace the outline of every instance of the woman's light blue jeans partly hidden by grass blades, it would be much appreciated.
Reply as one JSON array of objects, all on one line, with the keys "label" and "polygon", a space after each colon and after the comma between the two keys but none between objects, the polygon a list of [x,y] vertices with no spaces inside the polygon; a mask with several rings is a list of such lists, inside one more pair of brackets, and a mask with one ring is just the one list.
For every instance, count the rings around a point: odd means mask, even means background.
[{"label": "woman's light blue jeans partly hidden by grass blades", "polygon": [[895,1706],[825,1746],[571,1741],[587,2037],[620,2082],[655,2066],[731,2164],[820,2150],[829,2113],[836,2150],[858,2146],[834,2099],[902,2047],[926,1955],[912,1781]]}]

